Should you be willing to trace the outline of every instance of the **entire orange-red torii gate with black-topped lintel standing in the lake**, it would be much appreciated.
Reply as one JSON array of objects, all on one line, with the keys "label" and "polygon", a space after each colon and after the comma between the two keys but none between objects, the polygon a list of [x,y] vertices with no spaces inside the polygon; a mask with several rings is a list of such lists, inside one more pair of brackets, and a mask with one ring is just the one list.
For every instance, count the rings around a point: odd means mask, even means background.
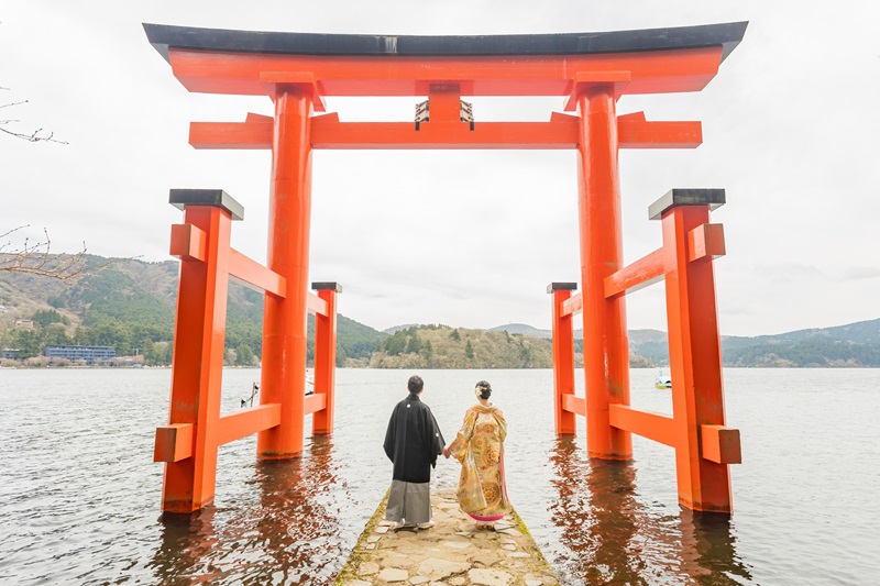
[{"label": "entire orange-red torii gate with black-topped lintel standing in the lake", "polygon": [[[172,191],[186,210],[172,253],[184,261],[175,333],[170,423],[156,435],[167,462],[163,509],[189,512],[213,498],[217,446],[258,432],[257,457],[297,456],[304,418],[332,431],[336,284],[323,303],[307,291],[314,148],[575,148],[581,278],[553,284],[557,432],[587,418],[593,457],[628,460],[630,433],[676,449],[679,500],[730,511],[728,464],[739,436],[724,427],[721,352],[711,259],[723,254],[708,224],[721,190],[673,190],[656,204],[663,248],[623,267],[618,148],[692,148],[700,122],[617,115],[623,95],[700,91],[741,41],[747,23],[675,29],[499,36],[371,36],[263,33],[144,24],[154,47],[190,91],[266,96],[274,117],[194,122],[197,148],[272,150],[268,267],[229,248],[243,213],[222,191]],[[341,122],[324,97],[428,97],[414,122]],[[548,122],[479,122],[462,96],[560,96]],[[427,107],[426,107],[427,106]],[[261,407],[219,417],[227,275],[266,291]],[[666,276],[673,417],[629,408],[624,295]],[[186,278],[185,278],[186,277]],[[190,319],[193,311],[199,316]],[[317,399],[305,398],[306,318],[317,309]],[[571,316],[583,309],[586,400],[574,397]],[[188,321],[189,320],[189,321]],[[194,339],[195,344],[184,344]],[[191,341],[191,340],[190,340]],[[182,347],[187,346],[187,347]],[[698,346],[698,347],[697,347]],[[316,361],[317,361],[316,355]],[[329,361],[329,362],[328,362]]]}]

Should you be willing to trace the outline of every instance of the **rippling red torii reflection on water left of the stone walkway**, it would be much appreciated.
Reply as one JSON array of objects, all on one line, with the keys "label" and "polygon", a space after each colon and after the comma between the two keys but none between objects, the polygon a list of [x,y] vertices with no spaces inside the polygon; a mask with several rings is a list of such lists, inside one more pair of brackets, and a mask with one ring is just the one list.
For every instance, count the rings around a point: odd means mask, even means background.
[{"label": "rippling red torii reflection on water left of the stone walkway", "polygon": [[332,583],[349,549],[340,504],[327,498],[327,487],[339,484],[332,451],[332,439],[318,435],[304,457],[257,462],[249,484],[258,488],[258,506],[163,515],[147,564],[155,583]]}]

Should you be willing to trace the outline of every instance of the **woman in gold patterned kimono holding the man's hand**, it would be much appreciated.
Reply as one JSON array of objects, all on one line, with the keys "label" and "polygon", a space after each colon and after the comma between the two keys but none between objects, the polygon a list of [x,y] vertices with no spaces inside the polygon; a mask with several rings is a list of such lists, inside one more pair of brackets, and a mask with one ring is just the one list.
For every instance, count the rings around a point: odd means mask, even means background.
[{"label": "woman in gold patterned kimono holding the man's hand", "polygon": [[510,510],[504,482],[504,439],[507,422],[504,413],[488,402],[492,386],[485,380],[474,389],[477,403],[464,413],[459,434],[443,455],[461,462],[459,505],[473,518],[477,528],[492,529]]}]

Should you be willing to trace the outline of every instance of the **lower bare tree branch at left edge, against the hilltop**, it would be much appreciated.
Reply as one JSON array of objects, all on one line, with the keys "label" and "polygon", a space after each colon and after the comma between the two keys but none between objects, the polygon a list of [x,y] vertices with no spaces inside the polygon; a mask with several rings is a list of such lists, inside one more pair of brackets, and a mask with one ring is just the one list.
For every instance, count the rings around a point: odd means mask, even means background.
[{"label": "lower bare tree branch at left edge, against the hilltop", "polygon": [[[28,228],[20,225],[0,234],[0,240],[6,240],[19,230]],[[82,250],[75,254],[53,253],[52,241],[44,229],[45,242],[32,244],[30,239],[24,239],[20,246],[13,246],[12,241],[0,242],[0,273],[25,273],[40,277],[50,277],[58,280],[75,283],[81,277],[92,275],[108,266],[112,261],[90,265],[86,257],[86,243]]]}]

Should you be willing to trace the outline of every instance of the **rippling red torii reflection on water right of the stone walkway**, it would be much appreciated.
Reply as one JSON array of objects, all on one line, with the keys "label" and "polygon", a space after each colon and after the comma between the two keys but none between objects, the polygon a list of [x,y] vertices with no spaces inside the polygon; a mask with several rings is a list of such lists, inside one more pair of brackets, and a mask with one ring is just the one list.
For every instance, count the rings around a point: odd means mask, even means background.
[{"label": "rippling red torii reflection on water right of the stone walkway", "polygon": [[751,579],[728,516],[686,508],[678,518],[658,515],[662,509],[637,497],[632,463],[587,460],[572,436],[557,440],[550,461],[558,495],[548,510],[565,549],[553,561],[565,584]]}]

